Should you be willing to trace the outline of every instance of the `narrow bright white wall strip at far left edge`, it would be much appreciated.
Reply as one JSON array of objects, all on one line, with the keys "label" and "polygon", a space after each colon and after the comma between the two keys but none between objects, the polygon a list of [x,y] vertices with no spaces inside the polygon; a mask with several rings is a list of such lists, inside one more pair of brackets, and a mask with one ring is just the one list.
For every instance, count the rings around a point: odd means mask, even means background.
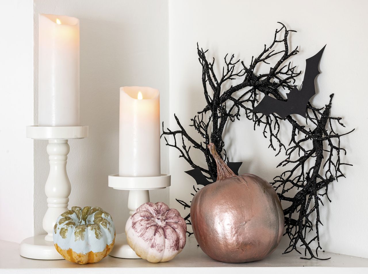
[{"label": "narrow bright white wall strip at far left edge", "polygon": [[13,242],[33,235],[32,11],[32,0],[0,8],[0,239]]}]

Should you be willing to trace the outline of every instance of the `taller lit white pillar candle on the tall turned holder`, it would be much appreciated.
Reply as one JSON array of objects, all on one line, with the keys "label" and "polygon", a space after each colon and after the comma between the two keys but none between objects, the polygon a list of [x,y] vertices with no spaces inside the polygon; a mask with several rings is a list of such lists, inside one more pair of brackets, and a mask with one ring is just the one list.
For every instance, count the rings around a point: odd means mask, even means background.
[{"label": "taller lit white pillar candle on the tall turned holder", "polygon": [[39,15],[38,125],[79,126],[79,19]]}]

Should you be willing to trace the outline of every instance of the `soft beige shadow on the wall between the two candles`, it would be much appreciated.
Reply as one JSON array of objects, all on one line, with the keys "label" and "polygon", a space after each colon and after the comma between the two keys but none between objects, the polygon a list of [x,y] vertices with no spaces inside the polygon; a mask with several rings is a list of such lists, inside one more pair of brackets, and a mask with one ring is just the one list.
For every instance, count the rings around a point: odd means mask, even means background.
[{"label": "soft beige shadow on the wall between the two candles", "polygon": [[75,150],[71,148],[69,159],[76,164],[68,163],[69,205],[99,206],[114,217],[121,230],[125,225],[121,215],[128,215],[128,209],[124,211],[128,194],[109,188],[107,176],[118,172],[118,91],[125,80],[122,77],[129,74],[123,70],[127,51],[122,36],[116,34],[124,30],[114,22],[82,18],[80,26],[80,116],[81,124],[90,131],[85,140],[70,141]]}]

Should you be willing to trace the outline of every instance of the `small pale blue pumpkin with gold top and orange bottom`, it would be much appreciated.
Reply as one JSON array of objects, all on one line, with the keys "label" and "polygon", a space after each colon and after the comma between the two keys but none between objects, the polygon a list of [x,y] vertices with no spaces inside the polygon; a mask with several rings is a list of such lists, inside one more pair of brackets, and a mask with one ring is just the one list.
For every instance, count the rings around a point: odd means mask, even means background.
[{"label": "small pale blue pumpkin with gold top and orange bottom", "polygon": [[115,226],[110,214],[100,207],[72,207],[57,218],[53,239],[64,259],[97,263],[113,249]]}]

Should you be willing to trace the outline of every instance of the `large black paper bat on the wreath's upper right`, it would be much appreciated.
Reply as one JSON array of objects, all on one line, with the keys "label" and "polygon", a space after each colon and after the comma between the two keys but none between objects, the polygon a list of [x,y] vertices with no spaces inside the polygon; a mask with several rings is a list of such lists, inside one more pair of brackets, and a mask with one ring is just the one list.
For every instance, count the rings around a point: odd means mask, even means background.
[{"label": "large black paper bat on the wreath's upper right", "polygon": [[307,104],[312,96],[316,94],[314,79],[320,73],[318,64],[325,47],[326,45],[316,55],[305,60],[305,73],[302,88],[300,90],[298,90],[297,87],[290,90],[287,94],[287,101],[280,101],[266,95],[251,112],[261,112],[266,116],[275,112],[283,119],[290,114],[299,114],[305,118],[307,114]]}]

